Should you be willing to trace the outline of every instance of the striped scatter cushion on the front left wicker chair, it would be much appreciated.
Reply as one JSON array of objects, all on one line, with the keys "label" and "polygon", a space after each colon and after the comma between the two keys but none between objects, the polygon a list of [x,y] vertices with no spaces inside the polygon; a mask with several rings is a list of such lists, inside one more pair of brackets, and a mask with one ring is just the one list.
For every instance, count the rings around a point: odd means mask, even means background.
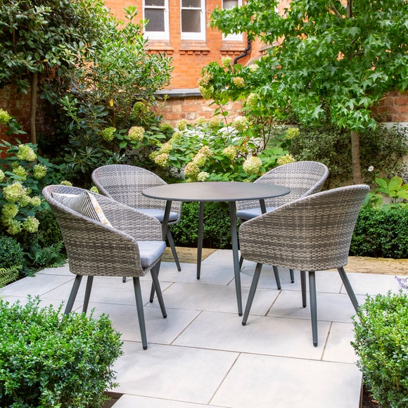
[{"label": "striped scatter cushion on the front left wicker chair", "polygon": [[84,191],[82,194],[60,194],[53,193],[53,198],[70,208],[73,211],[79,212],[79,214],[85,217],[95,219],[108,227],[112,227],[108,219],[103,214],[101,205],[98,204],[96,198],[92,196],[89,191]]}]

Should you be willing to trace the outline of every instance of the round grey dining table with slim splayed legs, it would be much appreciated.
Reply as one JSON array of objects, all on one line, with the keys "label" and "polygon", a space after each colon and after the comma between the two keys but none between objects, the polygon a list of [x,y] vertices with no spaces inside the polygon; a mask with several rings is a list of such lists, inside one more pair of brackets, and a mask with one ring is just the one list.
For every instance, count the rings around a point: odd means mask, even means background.
[{"label": "round grey dining table with slim splayed legs", "polygon": [[[200,181],[196,183],[162,184],[151,187],[142,193],[146,197],[166,200],[165,215],[162,222],[163,239],[166,236],[172,201],[198,202],[197,243],[197,279],[200,279],[201,257],[203,252],[203,222],[205,203],[223,201],[229,204],[229,220],[231,224],[231,247],[234,264],[234,278],[238,315],[242,316],[241,276],[238,255],[238,234],[236,230],[236,201],[257,200],[261,212],[266,212],[264,200],[277,196],[285,196],[291,189],[276,184],[250,183],[238,181]],[[153,300],[153,289],[151,300]]]}]

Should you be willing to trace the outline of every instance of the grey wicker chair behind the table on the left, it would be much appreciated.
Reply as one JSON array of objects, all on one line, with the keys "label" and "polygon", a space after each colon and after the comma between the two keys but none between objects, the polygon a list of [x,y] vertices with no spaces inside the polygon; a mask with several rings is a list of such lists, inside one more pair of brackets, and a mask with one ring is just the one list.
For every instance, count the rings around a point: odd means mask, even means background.
[{"label": "grey wicker chair behind the table on the left", "polygon": [[[141,193],[149,187],[166,184],[157,174],[131,165],[106,165],[98,167],[92,172],[92,181],[104,196],[151,215],[160,222],[163,221],[166,202],[148,198]],[[180,217],[181,203],[173,202],[168,224],[176,224],[179,222]],[[169,228],[167,228],[166,235],[172,249],[174,262],[176,262],[177,269],[180,271],[179,257]]]}]

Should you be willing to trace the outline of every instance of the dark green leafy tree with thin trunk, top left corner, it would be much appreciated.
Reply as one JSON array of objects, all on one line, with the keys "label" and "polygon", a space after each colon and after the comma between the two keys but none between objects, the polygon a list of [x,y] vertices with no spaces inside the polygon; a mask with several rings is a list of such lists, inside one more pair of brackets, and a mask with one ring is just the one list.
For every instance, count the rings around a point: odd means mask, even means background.
[{"label": "dark green leafy tree with thin trunk, top left corner", "polygon": [[99,37],[96,0],[3,0],[0,4],[0,88],[30,91],[30,141],[36,143],[37,90],[42,76],[58,77]]}]

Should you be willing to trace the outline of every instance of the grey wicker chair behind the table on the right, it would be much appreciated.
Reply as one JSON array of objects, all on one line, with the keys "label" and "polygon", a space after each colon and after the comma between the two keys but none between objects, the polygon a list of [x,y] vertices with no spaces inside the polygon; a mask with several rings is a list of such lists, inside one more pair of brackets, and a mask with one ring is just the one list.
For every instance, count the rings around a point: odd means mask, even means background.
[{"label": "grey wicker chair behind the table on the right", "polygon": [[[292,162],[287,165],[275,167],[269,172],[265,173],[255,183],[277,184],[278,186],[286,186],[291,189],[291,192],[286,196],[268,198],[265,200],[267,212],[274,210],[281,205],[291,203],[300,197],[309,196],[317,193],[329,176],[329,169],[321,162]],[[258,201],[238,201],[236,203],[236,217],[240,222],[248,221],[261,215],[260,203]],[[242,257],[240,263],[242,264]],[[291,282],[294,282],[293,269],[290,270]],[[276,279],[276,286],[281,288],[281,280],[279,278],[279,271],[274,266],[274,275]]]}]

